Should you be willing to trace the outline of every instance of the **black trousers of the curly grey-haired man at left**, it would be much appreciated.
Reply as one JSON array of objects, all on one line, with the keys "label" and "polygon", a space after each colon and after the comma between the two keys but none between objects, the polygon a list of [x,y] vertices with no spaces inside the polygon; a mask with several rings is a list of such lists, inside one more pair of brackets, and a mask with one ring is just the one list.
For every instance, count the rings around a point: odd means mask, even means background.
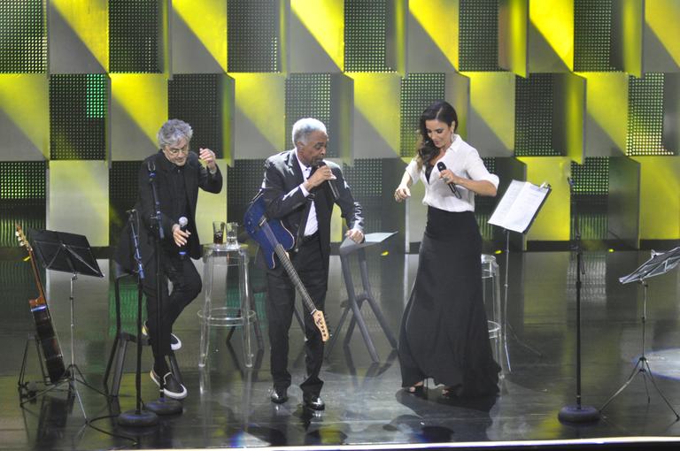
[{"label": "black trousers of the curly grey-haired man at left", "polygon": [[[160,258],[161,316],[160,336],[155,342],[158,325],[158,295],[156,287],[156,256],[144,266],[143,291],[146,294],[147,327],[151,339],[154,359],[170,354],[170,334],[174,321],[182,310],[196,299],[201,292],[201,277],[189,256],[181,259],[177,253],[161,249]],[[167,281],[173,283],[173,292],[168,293]]]}]

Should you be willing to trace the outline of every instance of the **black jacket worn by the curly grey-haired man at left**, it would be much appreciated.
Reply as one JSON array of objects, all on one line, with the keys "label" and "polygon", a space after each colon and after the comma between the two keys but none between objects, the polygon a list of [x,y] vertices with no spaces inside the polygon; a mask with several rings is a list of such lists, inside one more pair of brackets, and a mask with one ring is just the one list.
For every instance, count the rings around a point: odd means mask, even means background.
[{"label": "black jacket worn by the curly grey-haired man at left", "polygon": [[[196,230],[196,205],[198,200],[198,188],[204,189],[210,193],[219,193],[222,190],[222,174],[218,167],[217,172],[211,174],[205,167],[200,164],[198,156],[194,152],[189,152],[187,163],[184,165],[184,186],[186,188],[187,203],[186,212],[178,210],[178,203],[173,186],[173,180],[170,178],[171,172],[176,171],[176,166],[170,162],[163,153],[159,150],[156,154],[146,158],[138,173],[139,181],[139,195],[135,203],[135,210],[137,210],[138,218],[141,220],[139,226],[139,247],[143,263],[149,261],[154,255],[154,235],[151,229],[151,215],[155,211],[153,203],[153,195],[151,194],[151,184],[149,182],[149,167],[155,168],[155,184],[156,192],[158,193],[158,200],[160,203],[160,218],[161,227],[163,228],[164,240],[161,242],[161,247],[166,248],[169,252],[177,250],[177,245],[173,240],[173,226],[178,224],[179,217],[186,213],[189,219],[189,226],[187,230],[191,233],[189,235],[189,242],[187,245],[188,253],[191,258],[201,257],[201,241],[198,238]],[[128,271],[131,271],[135,266],[135,248],[130,237],[129,223],[124,227],[121,235],[118,248],[114,255],[115,260]]]}]

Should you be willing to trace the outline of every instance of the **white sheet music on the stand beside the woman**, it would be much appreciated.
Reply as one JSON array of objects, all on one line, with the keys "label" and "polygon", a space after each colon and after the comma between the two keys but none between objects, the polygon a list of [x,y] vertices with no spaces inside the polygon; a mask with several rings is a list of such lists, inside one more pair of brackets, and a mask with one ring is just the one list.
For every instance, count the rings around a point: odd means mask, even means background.
[{"label": "white sheet music on the stand beside the woman", "polygon": [[512,232],[529,232],[551,190],[546,183],[539,187],[529,181],[513,180],[493,210],[489,224]]}]

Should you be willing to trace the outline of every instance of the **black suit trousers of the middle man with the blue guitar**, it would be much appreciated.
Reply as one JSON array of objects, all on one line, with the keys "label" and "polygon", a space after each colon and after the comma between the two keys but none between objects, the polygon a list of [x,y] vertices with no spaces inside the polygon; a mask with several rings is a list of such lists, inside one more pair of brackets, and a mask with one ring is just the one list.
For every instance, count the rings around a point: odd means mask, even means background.
[{"label": "black suit trousers of the middle man with the blue guitar", "polygon": [[[324,309],[328,289],[328,270],[321,256],[321,243],[318,235],[300,246],[298,252],[290,253],[303,285],[307,289],[318,310]],[[271,346],[271,371],[274,388],[290,386],[288,371],[288,331],[293,318],[296,288],[281,264],[267,271],[267,317],[269,318],[269,343]],[[323,362],[323,341],[321,333],[313,322],[313,317],[305,309],[305,366],[307,378],[300,384],[304,394],[321,393],[323,381],[319,378]]]}]

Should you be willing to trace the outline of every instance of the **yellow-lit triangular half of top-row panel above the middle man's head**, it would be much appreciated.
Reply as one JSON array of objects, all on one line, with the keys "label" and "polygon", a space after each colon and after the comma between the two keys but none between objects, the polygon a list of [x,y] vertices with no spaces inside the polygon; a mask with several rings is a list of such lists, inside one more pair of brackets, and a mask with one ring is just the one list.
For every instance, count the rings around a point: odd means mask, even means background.
[{"label": "yellow-lit triangular half of top-row panel above the middle man's head", "polygon": [[290,8],[321,49],[344,70],[344,2],[290,0]]}]

